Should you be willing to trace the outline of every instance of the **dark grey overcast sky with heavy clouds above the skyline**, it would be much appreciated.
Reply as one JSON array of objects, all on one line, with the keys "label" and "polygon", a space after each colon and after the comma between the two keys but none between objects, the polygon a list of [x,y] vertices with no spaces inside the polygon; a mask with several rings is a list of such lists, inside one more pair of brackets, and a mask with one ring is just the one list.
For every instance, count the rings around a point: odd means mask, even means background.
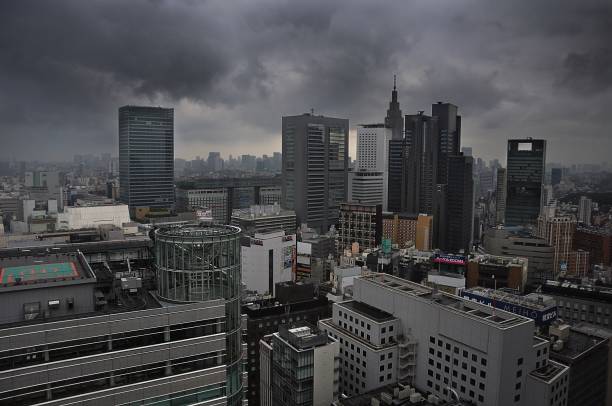
[{"label": "dark grey overcast sky with heavy clouds above the skyline", "polygon": [[397,74],[477,156],[611,162],[611,38],[609,0],[6,0],[0,160],[116,155],[124,104],[174,107],[177,157],[269,154],[283,115],[382,121]]}]

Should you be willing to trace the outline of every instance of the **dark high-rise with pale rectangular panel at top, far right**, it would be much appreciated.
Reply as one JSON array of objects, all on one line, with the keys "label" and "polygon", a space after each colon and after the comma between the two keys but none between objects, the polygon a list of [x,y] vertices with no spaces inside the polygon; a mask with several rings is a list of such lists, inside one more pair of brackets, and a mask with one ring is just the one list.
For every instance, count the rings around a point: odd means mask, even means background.
[{"label": "dark high-rise with pale rectangular panel at top, far right", "polygon": [[506,225],[535,226],[542,204],[545,165],[545,140],[508,140]]}]

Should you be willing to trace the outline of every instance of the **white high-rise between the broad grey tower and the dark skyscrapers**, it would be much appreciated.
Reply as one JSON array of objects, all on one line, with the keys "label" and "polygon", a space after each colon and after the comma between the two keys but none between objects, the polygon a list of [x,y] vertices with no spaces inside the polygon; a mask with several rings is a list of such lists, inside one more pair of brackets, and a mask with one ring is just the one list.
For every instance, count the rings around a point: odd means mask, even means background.
[{"label": "white high-rise between the broad grey tower and the dark skyscrapers", "polygon": [[357,168],[350,174],[349,200],[382,204],[387,210],[390,139],[391,129],[384,124],[365,124],[357,129]]}]

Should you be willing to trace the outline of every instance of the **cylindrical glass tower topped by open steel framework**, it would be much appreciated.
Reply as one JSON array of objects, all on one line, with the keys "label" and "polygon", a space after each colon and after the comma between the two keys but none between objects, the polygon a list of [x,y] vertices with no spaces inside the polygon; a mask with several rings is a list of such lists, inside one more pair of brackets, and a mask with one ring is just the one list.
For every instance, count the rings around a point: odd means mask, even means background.
[{"label": "cylindrical glass tower topped by open steel framework", "polygon": [[162,300],[225,299],[227,404],[240,404],[240,228],[207,224],[158,229],[155,263]]}]

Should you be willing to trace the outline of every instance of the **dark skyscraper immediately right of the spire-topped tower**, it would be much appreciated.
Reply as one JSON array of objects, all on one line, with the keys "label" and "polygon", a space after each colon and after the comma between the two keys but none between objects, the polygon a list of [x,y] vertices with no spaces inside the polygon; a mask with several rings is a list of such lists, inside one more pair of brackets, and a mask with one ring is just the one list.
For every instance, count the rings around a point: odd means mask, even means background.
[{"label": "dark skyscraper immediately right of the spire-topped tower", "polygon": [[406,166],[402,211],[432,214],[438,170],[438,119],[419,112],[406,116]]}]

